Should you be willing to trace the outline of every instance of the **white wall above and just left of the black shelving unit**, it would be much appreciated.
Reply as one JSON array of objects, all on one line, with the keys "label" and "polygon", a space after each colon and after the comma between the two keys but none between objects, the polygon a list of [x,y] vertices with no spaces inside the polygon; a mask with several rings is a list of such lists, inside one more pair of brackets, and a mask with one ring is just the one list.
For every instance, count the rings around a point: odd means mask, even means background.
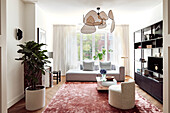
[{"label": "white wall above and just left of the black shelving unit", "polygon": [[129,22],[129,64],[130,76],[134,78],[134,32],[163,20],[163,4],[144,12],[134,14]]}]

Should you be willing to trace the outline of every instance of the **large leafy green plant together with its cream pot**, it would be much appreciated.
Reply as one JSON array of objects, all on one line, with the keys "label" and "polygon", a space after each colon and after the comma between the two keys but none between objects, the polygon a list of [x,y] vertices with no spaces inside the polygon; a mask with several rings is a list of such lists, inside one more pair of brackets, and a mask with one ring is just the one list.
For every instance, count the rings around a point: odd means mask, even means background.
[{"label": "large leafy green plant together with its cream pot", "polygon": [[21,60],[21,64],[24,64],[25,79],[29,86],[25,89],[27,110],[37,110],[45,106],[45,87],[38,85],[42,74],[45,74],[44,65],[49,62],[48,57],[45,55],[47,50],[41,50],[44,45],[34,41],[18,45],[21,49],[17,52],[23,54],[23,56],[16,60]]}]

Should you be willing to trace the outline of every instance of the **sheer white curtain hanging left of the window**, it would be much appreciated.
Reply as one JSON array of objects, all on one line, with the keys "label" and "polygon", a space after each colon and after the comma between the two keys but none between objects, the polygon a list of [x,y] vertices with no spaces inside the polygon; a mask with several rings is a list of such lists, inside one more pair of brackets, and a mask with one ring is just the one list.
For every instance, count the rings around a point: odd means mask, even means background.
[{"label": "sheer white curtain hanging left of the window", "polygon": [[53,33],[53,68],[65,75],[78,64],[76,26],[54,25]]}]

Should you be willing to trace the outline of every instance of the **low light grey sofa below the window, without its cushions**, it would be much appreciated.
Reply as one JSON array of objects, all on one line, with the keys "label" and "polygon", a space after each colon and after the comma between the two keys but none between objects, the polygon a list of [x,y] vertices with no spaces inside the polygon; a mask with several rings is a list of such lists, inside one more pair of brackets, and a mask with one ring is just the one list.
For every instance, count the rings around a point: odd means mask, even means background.
[{"label": "low light grey sofa below the window, without its cushions", "polygon": [[[114,76],[117,81],[125,80],[125,68],[119,67],[115,70],[107,71],[108,76]],[[83,71],[78,69],[71,69],[66,73],[67,82],[78,82],[78,81],[96,81],[96,77],[101,76],[100,70],[94,71]]]}]

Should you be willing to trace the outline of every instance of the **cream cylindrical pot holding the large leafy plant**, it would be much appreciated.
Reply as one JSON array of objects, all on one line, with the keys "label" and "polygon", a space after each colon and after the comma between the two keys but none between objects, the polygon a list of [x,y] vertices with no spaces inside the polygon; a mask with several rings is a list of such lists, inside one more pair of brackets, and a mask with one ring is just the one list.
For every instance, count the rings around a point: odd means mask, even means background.
[{"label": "cream cylindrical pot holding the large leafy plant", "polygon": [[41,86],[42,89],[28,90],[26,88],[26,109],[33,111],[43,108],[45,106],[45,87]]}]

